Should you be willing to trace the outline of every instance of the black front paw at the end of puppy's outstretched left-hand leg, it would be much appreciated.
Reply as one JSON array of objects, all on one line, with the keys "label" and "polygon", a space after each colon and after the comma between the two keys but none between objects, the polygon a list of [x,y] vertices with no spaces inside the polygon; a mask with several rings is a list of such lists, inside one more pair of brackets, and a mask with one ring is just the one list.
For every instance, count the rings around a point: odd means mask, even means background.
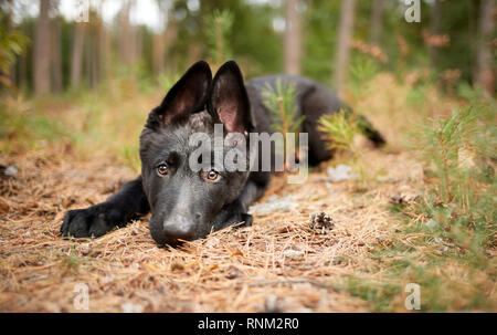
[{"label": "black front paw at the end of puppy's outstretched left-hand leg", "polygon": [[121,213],[104,203],[85,209],[70,210],[61,227],[62,237],[101,237],[121,223]]}]

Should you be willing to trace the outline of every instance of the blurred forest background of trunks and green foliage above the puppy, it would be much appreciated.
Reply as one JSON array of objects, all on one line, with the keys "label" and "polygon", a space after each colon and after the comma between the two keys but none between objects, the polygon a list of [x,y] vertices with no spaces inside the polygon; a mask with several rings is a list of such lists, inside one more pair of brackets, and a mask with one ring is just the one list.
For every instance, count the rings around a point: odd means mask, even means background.
[{"label": "blurred forest background of trunks and green foliage above the puppy", "polygon": [[[424,69],[413,84],[495,93],[494,0],[423,0],[419,23],[403,0],[102,0],[75,22],[78,2],[1,0],[2,91],[97,90],[116,77],[146,88],[199,59],[235,59],[247,78],[286,72],[342,90],[358,69]],[[140,7],[156,22],[139,22]]]}]

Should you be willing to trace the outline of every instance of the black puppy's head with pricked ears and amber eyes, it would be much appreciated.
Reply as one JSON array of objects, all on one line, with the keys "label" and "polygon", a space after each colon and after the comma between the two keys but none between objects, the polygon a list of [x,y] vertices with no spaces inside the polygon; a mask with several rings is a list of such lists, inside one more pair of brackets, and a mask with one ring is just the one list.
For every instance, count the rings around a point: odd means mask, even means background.
[{"label": "black puppy's head with pricked ears and amber eyes", "polygon": [[[221,149],[214,125],[223,129]],[[151,208],[150,232],[157,243],[205,237],[223,208],[236,201],[248,169],[226,169],[224,158],[247,147],[251,130],[247,94],[233,61],[221,66],[213,80],[205,62],[195,63],[150,112],[140,136],[140,158]],[[239,153],[247,156],[248,150]]]}]

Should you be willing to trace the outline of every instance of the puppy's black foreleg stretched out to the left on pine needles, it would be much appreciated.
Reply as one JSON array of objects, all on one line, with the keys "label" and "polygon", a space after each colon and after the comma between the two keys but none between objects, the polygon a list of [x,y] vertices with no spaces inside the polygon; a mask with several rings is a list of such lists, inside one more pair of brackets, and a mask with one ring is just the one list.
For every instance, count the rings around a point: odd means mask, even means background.
[{"label": "puppy's black foreleg stretched out to the left on pine needles", "polygon": [[99,237],[115,227],[124,227],[150,211],[141,177],[126,182],[104,202],[85,209],[70,210],[61,227],[63,237]]}]

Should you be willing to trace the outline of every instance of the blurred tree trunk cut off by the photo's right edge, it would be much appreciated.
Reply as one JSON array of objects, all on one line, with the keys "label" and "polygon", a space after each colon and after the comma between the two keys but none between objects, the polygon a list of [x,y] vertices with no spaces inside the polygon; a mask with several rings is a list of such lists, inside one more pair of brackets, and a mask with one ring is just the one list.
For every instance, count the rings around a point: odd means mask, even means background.
[{"label": "blurred tree trunk cut off by the photo's right edge", "polygon": [[495,90],[495,72],[493,70],[491,40],[495,29],[493,20],[495,0],[482,0],[479,14],[479,39],[476,84],[487,91],[490,95]]}]

